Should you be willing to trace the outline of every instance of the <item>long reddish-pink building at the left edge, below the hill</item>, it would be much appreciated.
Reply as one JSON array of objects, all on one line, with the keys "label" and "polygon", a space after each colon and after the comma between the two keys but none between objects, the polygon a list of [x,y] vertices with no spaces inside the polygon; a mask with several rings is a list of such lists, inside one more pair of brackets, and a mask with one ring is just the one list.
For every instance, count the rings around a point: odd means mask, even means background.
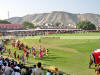
[{"label": "long reddish-pink building at the left edge, below the hill", "polygon": [[23,29],[21,24],[0,24],[0,30],[19,30]]}]

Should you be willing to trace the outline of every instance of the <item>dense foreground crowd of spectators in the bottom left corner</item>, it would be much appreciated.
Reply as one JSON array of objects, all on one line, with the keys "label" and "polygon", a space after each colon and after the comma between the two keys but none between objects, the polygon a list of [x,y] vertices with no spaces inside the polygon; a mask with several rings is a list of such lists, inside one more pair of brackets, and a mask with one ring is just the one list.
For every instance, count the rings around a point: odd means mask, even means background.
[{"label": "dense foreground crowd of spectators in the bottom left corner", "polygon": [[63,75],[58,73],[57,68],[56,71],[56,73],[53,73],[49,69],[44,70],[41,62],[38,62],[32,67],[28,67],[23,64],[18,64],[15,60],[0,56],[0,75]]}]

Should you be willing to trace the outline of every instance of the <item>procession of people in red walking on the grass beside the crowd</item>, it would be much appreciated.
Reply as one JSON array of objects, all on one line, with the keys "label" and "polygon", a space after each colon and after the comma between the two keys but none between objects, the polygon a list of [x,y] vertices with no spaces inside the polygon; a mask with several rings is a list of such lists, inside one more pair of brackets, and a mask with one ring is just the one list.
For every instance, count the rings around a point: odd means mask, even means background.
[{"label": "procession of people in red walking on the grass beside the crowd", "polygon": [[[7,52],[8,52],[8,56],[10,57],[12,54],[12,50],[8,49]],[[13,57],[15,59],[17,58],[18,62],[21,60],[21,62],[24,62],[24,64],[25,64],[25,57],[24,56],[26,56],[27,63],[28,63],[28,59],[29,59],[30,54],[32,54],[34,59],[36,58],[36,55],[39,56],[39,58],[42,58],[45,55],[48,56],[48,49],[45,50],[45,48],[43,48],[43,49],[40,48],[39,51],[36,51],[34,46],[32,46],[31,49],[29,49],[27,47],[23,50],[21,55],[17,54],[17,52],[15,50],[13,53]]]}]

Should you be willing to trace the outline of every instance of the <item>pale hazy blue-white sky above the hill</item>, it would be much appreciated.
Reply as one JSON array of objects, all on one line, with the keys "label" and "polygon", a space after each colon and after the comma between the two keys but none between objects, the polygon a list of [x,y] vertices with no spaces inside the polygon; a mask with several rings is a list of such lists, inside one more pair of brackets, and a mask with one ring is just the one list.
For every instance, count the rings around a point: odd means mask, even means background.
[{"label": "pale hazy blue-white sky above the hill", "polygon": [[0,19],[65,11],[100,14],[100,0],[0,0]]}]

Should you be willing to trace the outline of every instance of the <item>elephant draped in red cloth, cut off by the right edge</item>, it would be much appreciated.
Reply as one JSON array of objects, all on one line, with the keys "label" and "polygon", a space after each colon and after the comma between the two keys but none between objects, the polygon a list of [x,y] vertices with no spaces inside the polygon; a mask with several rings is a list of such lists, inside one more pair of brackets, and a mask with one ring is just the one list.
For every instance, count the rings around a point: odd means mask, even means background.
[{"label": "elephant draped in red cloth, cut off by the right edge", "polygon": [[90,55],[90,62],[89,62],[89,68],[91,68],[92,64],[98,65],[100,64],[100,49],[96,49],[92,52]]}]

